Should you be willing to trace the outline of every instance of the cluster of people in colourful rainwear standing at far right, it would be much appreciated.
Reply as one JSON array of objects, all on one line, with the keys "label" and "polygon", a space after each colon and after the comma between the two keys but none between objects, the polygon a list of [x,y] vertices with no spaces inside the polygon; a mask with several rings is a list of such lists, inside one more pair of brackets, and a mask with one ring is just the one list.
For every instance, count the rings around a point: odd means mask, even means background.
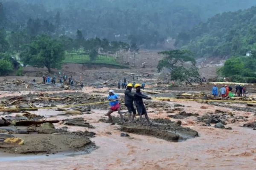
[{"label": "cluster of people in colourful rainwear standing at far right", "polygon": [[[244,85],[235,85],[234,88],[236,89],[235,95],[237,96],[246,96],[246,88]],[[233,88],[231,85],[223,85],[220,90],[218,91],[217,85],[214,85],[212,87],[212,95],[215,97],[220,94],[222,98],[228,98],[228,97],[233,97],[234,94],[232,94]]]}]

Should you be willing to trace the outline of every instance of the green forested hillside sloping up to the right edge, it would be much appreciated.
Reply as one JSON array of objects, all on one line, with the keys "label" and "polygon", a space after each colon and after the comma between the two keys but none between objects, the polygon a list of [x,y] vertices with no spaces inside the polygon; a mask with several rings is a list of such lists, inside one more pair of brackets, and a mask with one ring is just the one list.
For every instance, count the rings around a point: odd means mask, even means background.
[{"label": "green forested hillside sloping up to the right edge", "polygon": [[217,14],[178,34],[175,45],[196,56],[244,56],[256,49],[256,6]]}]

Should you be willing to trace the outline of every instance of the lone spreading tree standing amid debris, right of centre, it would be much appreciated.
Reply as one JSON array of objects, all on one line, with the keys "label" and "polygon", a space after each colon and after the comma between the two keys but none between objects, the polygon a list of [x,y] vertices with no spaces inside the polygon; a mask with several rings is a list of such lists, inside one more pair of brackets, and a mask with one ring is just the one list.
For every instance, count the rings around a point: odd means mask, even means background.
[{"label": "lone spreading tree standing amid debris, right of centre", "polygon": [[[158,62],[157,69],[161,71],[163,68],[170,70],[172,80],[180,80],[188,82],[191,85],[190,79],[200,79],[198,68],[195,66],[196,61],[191,51],[187,50],[172,50],[162,51],[159,54],[165,57]],[[185,62],[190,62],[191,66],[184,66]]]}]

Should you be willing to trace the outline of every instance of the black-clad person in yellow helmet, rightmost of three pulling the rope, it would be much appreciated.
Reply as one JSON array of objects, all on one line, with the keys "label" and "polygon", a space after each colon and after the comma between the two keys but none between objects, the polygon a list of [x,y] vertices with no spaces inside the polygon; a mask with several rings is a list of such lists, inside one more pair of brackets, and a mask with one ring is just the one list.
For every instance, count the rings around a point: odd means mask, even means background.
[{"label": "black-clad person in yellow helmet, rightmost of three pulling the rope", "polygon": [[143,99],[151,99],[151,97],[148,97],[140,92],[139,84],[135,84],[134,88],[136,89],[136,92],[134,94],[134,103],[136,105],[137,112],[140,115],[141,124],[143,125],[142,115],[145,114],[145,118],[147,119],[149,125],[151,125],[152,123],[150,122],[150,120],[148,118],[148,113],[147,113],[145,105],[143,103]]}]

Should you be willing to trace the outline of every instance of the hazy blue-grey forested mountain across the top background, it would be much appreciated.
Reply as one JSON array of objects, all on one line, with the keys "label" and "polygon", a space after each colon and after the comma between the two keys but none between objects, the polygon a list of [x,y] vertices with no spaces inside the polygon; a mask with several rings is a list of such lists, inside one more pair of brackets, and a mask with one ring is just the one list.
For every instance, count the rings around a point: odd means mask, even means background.
[{"label": "hazy blue-grey forested mountain across the top background", "polygon": [[44,32],[129,41],[155,48],[208,17],[253,5],[254,0],[1,0],[0,25],[7,31]]}]

